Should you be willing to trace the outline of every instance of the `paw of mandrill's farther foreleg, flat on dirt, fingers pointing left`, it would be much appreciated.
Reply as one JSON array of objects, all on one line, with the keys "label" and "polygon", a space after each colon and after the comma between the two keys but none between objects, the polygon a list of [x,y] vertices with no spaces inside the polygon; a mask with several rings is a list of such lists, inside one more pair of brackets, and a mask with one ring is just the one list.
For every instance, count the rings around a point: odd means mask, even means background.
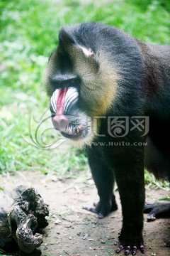
[{"label": "paw of mandrill's farther foreleg, flat on dirt, fingers pointing left", "polygon": [[98,218],[104,218],[112,211],[118,210],[118,206],[117,203],[115,203],[115,196],[113,196],[110,201],[105,201],[103,203],[100,201],[98,203],[94,203],[94,207],[84,206],[83,209],[98,214]]}]

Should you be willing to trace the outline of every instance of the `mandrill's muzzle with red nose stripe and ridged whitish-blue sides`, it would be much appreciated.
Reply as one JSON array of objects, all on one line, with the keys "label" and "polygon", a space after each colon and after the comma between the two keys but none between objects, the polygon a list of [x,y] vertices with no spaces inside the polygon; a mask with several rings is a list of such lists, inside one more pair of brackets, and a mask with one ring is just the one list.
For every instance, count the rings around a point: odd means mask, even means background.
[{"label": "mandrill's muzzle with red nose stripe and ridged whitish-blue sides", "polygon": [[79,93],[76,87],[56,89],[50,99],[52,123],[64,137],[81,139],[84,134],[83,112],[78,107]]}]

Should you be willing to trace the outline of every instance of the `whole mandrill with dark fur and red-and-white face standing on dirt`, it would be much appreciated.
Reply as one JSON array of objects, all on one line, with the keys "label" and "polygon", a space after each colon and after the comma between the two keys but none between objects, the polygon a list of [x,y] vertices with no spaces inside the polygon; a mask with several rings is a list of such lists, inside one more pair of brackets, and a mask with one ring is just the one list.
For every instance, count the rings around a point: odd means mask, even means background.
[{"label": "whole mandrill with dark fur and red-and-white face standing on dirt", "polygon": [[[117,210],[116,181],[123,213],[116,252],[144,253],[144,168],[170,179],[170,46],[101,23],[64,26],[46,89],[55,129],[87,152],[100,201],[86,210],[98,218]],[[170,217],[168,203],[146,211]]]}]

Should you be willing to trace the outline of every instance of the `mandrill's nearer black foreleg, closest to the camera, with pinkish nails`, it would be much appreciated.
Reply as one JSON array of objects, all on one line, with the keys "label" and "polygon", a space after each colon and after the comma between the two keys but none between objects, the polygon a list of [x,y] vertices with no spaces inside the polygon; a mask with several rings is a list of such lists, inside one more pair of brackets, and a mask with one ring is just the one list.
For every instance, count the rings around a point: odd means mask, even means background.
[{"label": "mandrill's nearer black foreleg, closest to the camera, with pinkish nails", "polygon": [[143,150],[135,152],[132,149],[130,154],[119,156],[114,164],[123,213],[120,246],[116,252],[125,249],[125,255],[129,255],[132,250],[132,255],[136,255],[139,249],[145,253],[142,238],[145,205]]}]

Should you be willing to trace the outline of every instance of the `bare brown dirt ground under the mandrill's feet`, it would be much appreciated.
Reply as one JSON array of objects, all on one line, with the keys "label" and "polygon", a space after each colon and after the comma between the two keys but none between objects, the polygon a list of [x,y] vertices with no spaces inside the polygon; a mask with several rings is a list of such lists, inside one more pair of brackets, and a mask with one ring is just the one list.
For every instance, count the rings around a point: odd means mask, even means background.
[{"label": "bare brown dirt ground under the mandrill's feet", "polygon": [[[43,243],[33,255],[42,256],[108,256],[115,253],[118,233],[122,225],[118,192],[118,210],[107,218],[98,220],[94,213],[82,209],[98,201],[93,181],[88,184],[73,179],[59,179],[45,176],[38,171],[16,172],[10,176],[0,176],[0,186],[8,189],[26,184],[38,189],[45,203],[49,205],[49,225],[45,228]],[[147,201],[167,196],[166,191],[147,191]],[[145,215],[144,238],[145,256],[169,256],[170,248],[164,240],[170,240],[170,219],[159,219],[147,223]],[[25,256],[26,254],[22,254]],[[124,255],[124,253],[120,253]],[[142,255],[140,252],[137,255]]]}]

